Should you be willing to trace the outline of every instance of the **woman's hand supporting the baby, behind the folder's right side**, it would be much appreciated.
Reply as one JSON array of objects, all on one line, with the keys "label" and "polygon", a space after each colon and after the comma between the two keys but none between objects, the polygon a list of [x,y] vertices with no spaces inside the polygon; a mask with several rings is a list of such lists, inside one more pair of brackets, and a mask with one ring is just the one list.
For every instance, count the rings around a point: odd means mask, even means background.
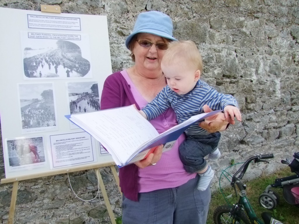
[{"label": "woman's hand supporting the baby, behind the folder's right side", "polygon": [[[205,113],[213,111],[208,105],[204,105],[203,109]],[[229,117],[225,120],[224,113],[217,113],[213,116],[209,116],[205,121],[200,122],[199,127],[210,133],[214,133],[216,131],[224,131],[228,127],[228,124],[234,123],[234,118]]]}]

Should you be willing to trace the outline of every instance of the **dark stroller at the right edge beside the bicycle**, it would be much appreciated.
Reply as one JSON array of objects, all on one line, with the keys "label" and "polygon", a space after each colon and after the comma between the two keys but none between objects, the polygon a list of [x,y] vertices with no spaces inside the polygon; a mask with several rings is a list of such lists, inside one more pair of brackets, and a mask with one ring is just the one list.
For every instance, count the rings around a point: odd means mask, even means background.
[{"label": "dark stroller at the right edge beside the bicycle", "polygon": [[283,188],[283,197],[289,204],[299,208],[299,152],[294,153],[293,159],[281,160],[281,163],[289,165],[295,175],[277,178],[273,184],[266,187],[266,190],[259,197],[260,205],[267,209],[276,208],[279,196],[271,188]]}]

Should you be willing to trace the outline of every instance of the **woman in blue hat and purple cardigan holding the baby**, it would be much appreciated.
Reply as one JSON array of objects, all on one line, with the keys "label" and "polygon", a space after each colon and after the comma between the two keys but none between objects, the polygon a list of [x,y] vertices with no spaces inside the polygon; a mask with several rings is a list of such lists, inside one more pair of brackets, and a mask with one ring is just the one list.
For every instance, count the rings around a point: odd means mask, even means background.
[{"label": "woman in blue hat and purple cardigan holding the baby", "polygon": [[[106,79],[101,109],[135,104],[140,110],[155,98],[166,86],[160,63],[167,43],[176,41],[172,32],[169,16],[157,11],[139,14],[125,41],[135,65]],[[204,111],[209,112],[210,108],[206,106]],[[223,120],[223,114],[219,114],[200,126],[210,132],[222,131],[228,125]],[[159,133],[177,125],[171,108],[150,122]],[[156,147],[146,159],[120,168],[123,224],[206,223],[210,187],[198,191],[198,175],[184,170],[178,151],[184,139],[182,134],[170,151],[162,154],[162,146]]]}]

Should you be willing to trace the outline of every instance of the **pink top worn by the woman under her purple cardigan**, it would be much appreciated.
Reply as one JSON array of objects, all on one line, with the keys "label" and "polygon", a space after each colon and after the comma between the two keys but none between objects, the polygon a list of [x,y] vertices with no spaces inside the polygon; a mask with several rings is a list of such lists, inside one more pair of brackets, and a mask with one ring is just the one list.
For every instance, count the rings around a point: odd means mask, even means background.
[{"label": "pink top worn by the woman under her purple cardigan", "polygon": [[[126,70],[121,71],[126,82],[131,87],[131,92],[140,108],[148,103],[136,89],[132,80],[129,78]],[[177,125],[176,115],[170,108],[166,113],[152,119],[150,123],[162,133],[167,129]],[[144,169],[138,168],[138,192],[149,192],[164,188],[173,188],[186,183],[193,179],[196,174],[188,174],[179,158],[179,145],[184,141],[185,136],[182,134],[176,141],[170,151],[164,152],[161,159],[154,166],[148,166]]]}]

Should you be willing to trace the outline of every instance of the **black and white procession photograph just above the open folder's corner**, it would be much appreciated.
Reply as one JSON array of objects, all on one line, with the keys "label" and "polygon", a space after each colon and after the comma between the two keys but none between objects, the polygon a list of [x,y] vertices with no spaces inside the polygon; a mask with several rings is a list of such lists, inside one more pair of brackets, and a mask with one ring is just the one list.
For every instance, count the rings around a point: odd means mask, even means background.
[{"label": "black and white procession photograph just above the open folder's corner", "polygon": [[97,82],[68,82],[70,113],[88,113],[100,110]]}]

